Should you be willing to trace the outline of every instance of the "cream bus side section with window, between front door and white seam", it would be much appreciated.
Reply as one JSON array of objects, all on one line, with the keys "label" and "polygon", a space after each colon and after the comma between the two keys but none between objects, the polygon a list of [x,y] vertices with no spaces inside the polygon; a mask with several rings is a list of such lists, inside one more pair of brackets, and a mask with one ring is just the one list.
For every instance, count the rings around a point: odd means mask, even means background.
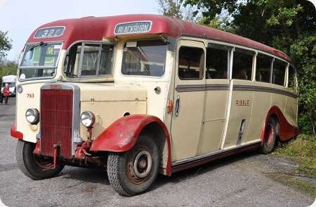
[{"label": "cream bus side section with window, between front door and white seam", "polygon": [[198,155],[220,149],[228,108],[231,51],[231,46],[213,43],[209,43],[206,49],[204,118]]}]

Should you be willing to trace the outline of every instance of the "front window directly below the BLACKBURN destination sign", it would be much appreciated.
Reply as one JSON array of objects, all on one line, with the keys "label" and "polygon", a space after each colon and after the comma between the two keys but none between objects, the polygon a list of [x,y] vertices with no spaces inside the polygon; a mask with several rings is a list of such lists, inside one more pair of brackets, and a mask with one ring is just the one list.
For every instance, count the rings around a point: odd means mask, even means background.
[{"label": "front window directly below the BLACKBURN destination sign", "polygon": [[123,75],[164,75],[166,42],[160,39],[126,42],[121,73]]}]

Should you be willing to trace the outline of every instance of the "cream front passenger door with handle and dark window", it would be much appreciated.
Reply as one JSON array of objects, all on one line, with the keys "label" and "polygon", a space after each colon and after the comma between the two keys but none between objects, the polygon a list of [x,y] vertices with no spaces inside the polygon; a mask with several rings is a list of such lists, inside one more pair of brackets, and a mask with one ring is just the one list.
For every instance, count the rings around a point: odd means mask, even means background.
[{"label": "cream front passenger door with handle and dark window", "polygon": [[197,154],[205,93],[204,43],[180,40],[177,49],[171,120],[173,161]]}]

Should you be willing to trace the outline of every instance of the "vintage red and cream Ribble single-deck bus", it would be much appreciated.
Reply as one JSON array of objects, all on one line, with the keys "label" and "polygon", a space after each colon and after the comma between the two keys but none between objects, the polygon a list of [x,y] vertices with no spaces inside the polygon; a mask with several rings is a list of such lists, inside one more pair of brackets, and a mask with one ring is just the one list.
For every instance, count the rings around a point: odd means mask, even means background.
[{"label": "vintage red and cream Ribble single-deck bus", "polygon": [[18,66],[16,158],[34,180],[65,165],[105,167],[121,195],[298,134],[286,54],[161,15],[58,20],[27,40]]}]

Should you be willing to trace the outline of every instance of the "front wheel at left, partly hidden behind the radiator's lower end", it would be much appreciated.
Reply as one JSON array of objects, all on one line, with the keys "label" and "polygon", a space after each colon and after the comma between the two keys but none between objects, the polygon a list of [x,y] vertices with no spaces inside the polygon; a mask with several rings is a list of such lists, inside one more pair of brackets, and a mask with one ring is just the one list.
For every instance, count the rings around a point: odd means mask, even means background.
[{"label": "front wheel at left, partly hidden behind the radiator's lower end", "polygon": [[65,165],[58,163],[56,168],[51,169],[53,167],[53,159],[34,155],[35,146],[36,144],[31,142],[18,141],[16,160],[20,170],[33,180],[43,180],[58,175]]}]

